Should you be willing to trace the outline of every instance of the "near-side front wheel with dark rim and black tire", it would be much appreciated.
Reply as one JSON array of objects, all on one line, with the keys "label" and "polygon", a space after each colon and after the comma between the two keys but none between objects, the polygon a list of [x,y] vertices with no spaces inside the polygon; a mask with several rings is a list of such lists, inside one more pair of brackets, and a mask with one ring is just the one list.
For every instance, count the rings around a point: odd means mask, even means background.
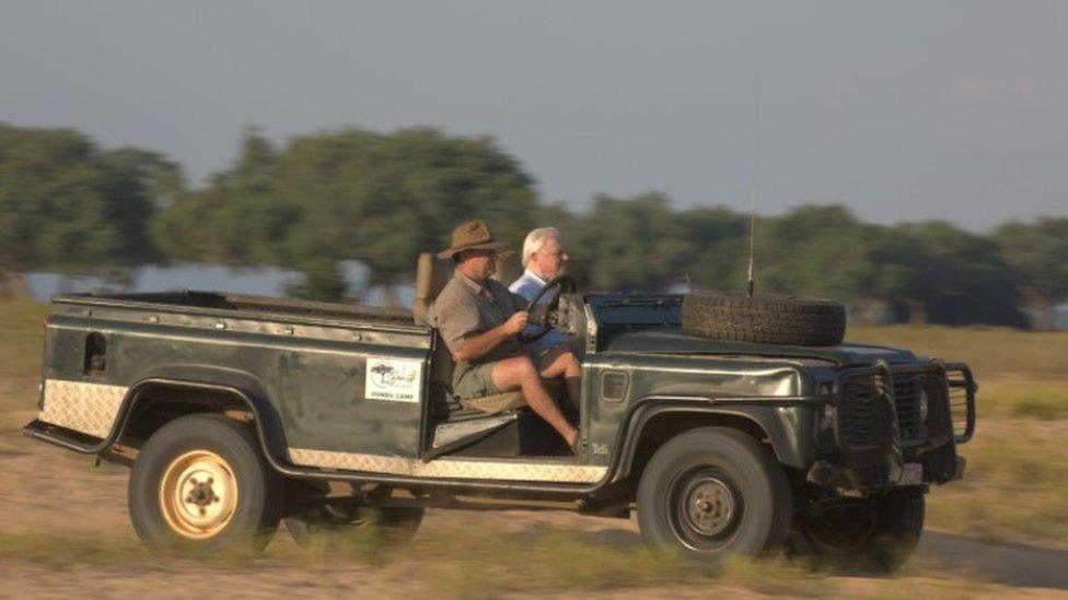
[{"label": "near-side front wheel with dark rim and black tire", "polygon": [[692,430],[665,443],[646,466],[637,499],[646,542],[695,557],[774,552],[790,530],[786,474],[766,447],[735,430]]}]

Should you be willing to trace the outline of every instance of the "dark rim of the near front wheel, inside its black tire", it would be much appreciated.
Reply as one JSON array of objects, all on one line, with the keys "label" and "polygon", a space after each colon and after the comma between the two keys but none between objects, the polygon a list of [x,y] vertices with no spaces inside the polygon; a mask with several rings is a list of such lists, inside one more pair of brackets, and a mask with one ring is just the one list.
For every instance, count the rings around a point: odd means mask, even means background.
[{"label": "dark rim of the near front wheel, inside its black tire", "polygon": [[669,522],[684,545],[719,552],[730,544],[744,506],[729,478],[713,469],[695,469],[677,477],[669,490]]}]

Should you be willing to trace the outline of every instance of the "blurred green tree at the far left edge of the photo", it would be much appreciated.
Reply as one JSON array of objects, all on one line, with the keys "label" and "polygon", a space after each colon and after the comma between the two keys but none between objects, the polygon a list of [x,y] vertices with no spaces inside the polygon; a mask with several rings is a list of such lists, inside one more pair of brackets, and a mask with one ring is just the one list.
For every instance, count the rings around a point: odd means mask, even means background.
[{"label": "blurred green tree at the far left edge of the photo", "polygon": [[181,188],[160,154],[0,123],[0,269],[128,273],[159,256],[147,222]]}]

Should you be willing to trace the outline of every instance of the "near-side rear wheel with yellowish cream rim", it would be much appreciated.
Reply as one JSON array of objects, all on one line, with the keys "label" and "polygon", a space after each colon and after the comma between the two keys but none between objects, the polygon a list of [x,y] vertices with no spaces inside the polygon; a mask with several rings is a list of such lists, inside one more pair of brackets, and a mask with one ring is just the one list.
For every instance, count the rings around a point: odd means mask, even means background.
[{"label": "near-side rear wheel with yellowish cream rim", "polygon": [[160,428],[138,454],[128,489],[134,529],[153,550],[263,550],[282,496],[248,428],[218,414]]}]

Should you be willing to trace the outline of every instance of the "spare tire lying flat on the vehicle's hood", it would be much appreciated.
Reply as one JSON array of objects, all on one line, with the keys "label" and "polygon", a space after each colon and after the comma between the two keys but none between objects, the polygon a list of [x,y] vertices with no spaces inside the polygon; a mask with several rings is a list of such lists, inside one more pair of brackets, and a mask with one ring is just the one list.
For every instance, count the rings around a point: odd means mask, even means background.
[{"label": "spare tire lying flat on the vehicle's hood", "polygon": [[738,342],[835,345],[846,307],[823,298],[695,291],[683,298],[683,333]]}]

